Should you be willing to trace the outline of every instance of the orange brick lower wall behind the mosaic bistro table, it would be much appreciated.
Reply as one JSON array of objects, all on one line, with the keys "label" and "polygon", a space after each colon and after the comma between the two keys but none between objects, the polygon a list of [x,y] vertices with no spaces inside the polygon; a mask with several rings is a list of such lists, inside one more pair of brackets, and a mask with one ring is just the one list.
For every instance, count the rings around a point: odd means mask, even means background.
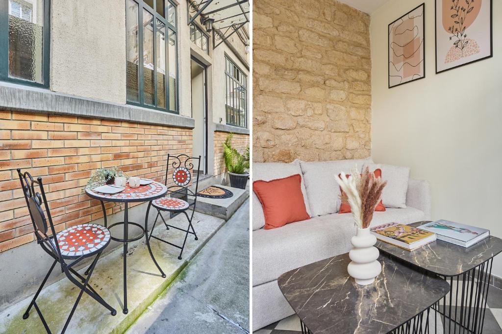
[{"label": "orange brick lower wall behind the mosaic bistro table", "polygon": [[[0,111],[0,252],[34,240],[17,168],[48,185],[60,231],[103,216],[99,202],[82,193],[93,171],[117,166],[130,176],[164,182],[168,152],[191,155],[192,130]],[[106,204],[107,214],[118,211],[118,205]]]}]

